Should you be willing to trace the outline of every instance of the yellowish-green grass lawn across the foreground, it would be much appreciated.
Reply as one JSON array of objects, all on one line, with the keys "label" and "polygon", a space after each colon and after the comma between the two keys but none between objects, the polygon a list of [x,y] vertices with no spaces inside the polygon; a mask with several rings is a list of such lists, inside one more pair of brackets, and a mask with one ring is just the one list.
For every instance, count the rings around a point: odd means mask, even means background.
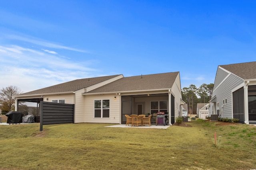
[{"label": "yellowish-green grass lawn across the foreground", "polygon": [[[256,168],[256,126],[194,121],[192,127],[112,128],[78,123],[0,126],[0,169]],[[220,149],[214,133],[221,136]]]}]

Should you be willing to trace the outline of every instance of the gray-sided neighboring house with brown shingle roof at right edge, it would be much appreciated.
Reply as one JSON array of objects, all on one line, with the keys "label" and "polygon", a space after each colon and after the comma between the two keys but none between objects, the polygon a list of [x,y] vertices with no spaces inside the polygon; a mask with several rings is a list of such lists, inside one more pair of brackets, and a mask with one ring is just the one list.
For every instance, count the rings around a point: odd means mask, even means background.
[{"label": "gray-sided neighboring house with brown shingle roof at right edge", "polygon": [[218,66],[209,115],[256,124],[256,62]]}]

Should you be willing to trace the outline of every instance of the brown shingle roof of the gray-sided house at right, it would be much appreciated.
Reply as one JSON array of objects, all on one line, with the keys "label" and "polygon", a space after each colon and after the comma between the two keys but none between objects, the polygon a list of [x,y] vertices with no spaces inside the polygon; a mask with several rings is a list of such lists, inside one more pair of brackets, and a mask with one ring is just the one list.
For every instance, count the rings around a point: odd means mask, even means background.
[{"label": "brown shingle roof of the gray-sided house at right", "polygon": [[236,74],[244,80],[256,78],[256,61],[249,63],[220,65],[220,67]]}]

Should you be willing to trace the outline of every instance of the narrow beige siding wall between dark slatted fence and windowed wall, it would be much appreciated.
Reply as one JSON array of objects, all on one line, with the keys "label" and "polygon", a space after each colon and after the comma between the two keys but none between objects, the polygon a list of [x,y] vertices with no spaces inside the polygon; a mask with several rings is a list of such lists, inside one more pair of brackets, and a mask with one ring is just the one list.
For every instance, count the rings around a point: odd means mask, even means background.
[{"label": "narrow beige siding wall between dark slatted fence and windowed wall", "polygon": [[85,120],[84,115],[84,99],[85,96],[82,95],[85,89],[81,89],[75,92],[75,123],[83,123]]}]

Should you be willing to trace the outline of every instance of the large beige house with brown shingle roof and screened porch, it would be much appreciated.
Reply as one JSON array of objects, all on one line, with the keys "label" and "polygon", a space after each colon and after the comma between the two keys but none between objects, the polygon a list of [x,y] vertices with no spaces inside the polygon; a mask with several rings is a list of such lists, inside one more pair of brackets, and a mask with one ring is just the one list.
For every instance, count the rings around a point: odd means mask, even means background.
[{"label": "large beige house with brown shingle roof and screened porch", "polygon": [[85,78],[15,97],[16,111],[22,111],[22,105],[36,107],[36,117],[40,116],[40,101],[74,104],[74,123],[125,124],[125,114],[164,111],[172,124],[175,117],[181,116],[181,105],[185,104],[181,100],[179,72]]}]

